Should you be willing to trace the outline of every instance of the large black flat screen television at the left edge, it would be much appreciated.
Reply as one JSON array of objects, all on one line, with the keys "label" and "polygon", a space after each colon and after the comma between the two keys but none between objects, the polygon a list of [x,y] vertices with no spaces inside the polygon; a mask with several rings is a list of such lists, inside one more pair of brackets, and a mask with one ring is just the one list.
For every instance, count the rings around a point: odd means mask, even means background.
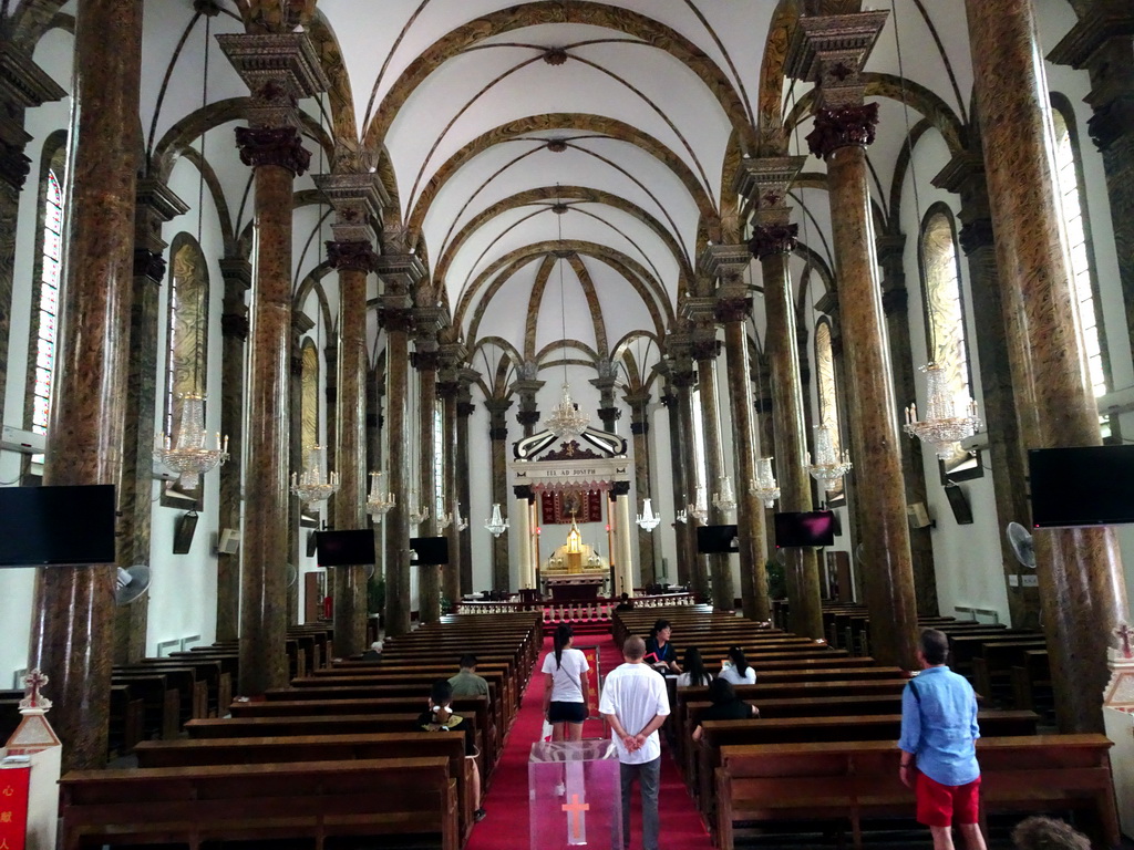
[{"label": "large black flat screen television at the left edge", "polygon": [[0,487],[0,567],[115,562],[113,484]]}]

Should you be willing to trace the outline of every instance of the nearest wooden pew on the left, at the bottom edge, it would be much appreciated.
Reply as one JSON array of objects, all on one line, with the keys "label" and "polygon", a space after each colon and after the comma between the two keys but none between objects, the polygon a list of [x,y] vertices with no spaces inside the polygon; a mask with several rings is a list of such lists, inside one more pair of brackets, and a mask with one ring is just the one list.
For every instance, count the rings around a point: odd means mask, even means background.
[{"label": "nearest wooden pew on the left, at the bottom edge", "polygon": [[60,781],[62,848],[438,834],[458,850],[447,758],[75,771]]}]

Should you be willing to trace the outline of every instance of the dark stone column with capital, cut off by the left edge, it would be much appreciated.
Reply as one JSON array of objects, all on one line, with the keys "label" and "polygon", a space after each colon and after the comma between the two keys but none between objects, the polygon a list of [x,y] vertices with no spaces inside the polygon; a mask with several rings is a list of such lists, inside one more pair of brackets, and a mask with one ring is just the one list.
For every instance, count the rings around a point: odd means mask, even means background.
[{"label": "dark stone column with capital, cut off by the left edge", "polygon": [[[0,351],[8,350],[11,330],[19,193],[32,167],[24,153],[32,141],[24,129],[24,112],[66,96],[67,92],[11,39],[0,40]],[[0,396],[7,384],[8,358],[2,357]]]}]

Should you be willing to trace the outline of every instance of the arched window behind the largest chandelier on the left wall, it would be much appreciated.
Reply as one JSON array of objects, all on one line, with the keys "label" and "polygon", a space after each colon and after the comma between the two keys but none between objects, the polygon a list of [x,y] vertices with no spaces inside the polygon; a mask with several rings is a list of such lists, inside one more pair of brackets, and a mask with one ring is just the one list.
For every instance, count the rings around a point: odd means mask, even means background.
[{"label": "arched window behind the largest chandelier on the left wall", "polygon": [[[178,233],[170,248],[169,287],[166,292],[166,386],[162,431],[177,443],[186,396],[206,392],[209,351],[209,269],[196,240]],[[206,402],[208,403],[208,402]],[[169,482],[162,503],[185,507],[184,500],[200,503],[204,479],[192,490]]]}]

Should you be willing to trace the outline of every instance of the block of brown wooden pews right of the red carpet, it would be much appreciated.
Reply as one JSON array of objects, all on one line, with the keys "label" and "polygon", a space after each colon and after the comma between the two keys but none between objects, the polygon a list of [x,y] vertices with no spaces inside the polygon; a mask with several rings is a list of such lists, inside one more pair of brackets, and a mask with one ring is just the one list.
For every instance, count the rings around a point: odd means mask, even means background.
[{"label": "block of brown wooden pews right of the red carpet", "polygon": [[[833,623],[833,611],[830,621]],[[653,618],[672,626],[682,657],[696,646],[717,674],[729,646],[741,646],[756,670],[737,695],[760,708],[754,720],[708,721],[708,688],[677,688],[670,741],[689,793],[717,847],[767,832],[849,830],[862,847],[863,824],[913,819],[913,792],[898,777],[902,690],[899,668],[855,655],[852,647],[799,638],[767,624],[699,606],[668,612],[620,612],[615,635],[648,634]],[[972,660],[980,646],[972,623],[926,618]],[[865,626],[865,624],[862,624]],[[998,635],[991,636],[997,643]],[[831,643],[835,643],[833,640]],[[1038,733],[1032,711],[996,708],[981,698],[982,815],[1074,813],[1098,845],[1117,844],[1110,741],[1098,734]],[[702,725],[700,742],[693,730]]]}]

